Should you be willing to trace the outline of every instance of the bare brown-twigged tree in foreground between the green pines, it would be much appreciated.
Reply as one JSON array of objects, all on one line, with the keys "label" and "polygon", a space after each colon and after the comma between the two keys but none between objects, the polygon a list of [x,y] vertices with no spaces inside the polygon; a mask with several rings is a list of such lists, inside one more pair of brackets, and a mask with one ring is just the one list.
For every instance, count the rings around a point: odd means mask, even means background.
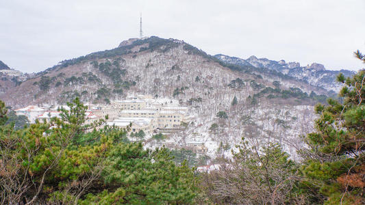
[{"label": "bare brown-twigged tree in foreground between the green pines", "polygon": [[234,160],[203,176],[202,187],[210,200],[216,204],[305,204],[307,199],[293,191],[301,177],[293,171],[296,164],[288,154],[274,144],[259,146],[255,139],[251,143],[241,143]]}]

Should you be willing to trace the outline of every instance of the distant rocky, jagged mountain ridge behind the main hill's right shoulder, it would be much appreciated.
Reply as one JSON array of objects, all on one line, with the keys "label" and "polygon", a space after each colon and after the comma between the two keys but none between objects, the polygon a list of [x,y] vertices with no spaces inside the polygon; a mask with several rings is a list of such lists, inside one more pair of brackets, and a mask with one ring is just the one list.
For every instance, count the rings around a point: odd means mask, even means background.
[{"label": "distant rocky, jagged mountain ridge behind the main hill's right shoulder", "polygon": [[342,72],[346,77],[349,77],[355,72],[351,70],[326,70],[322,64],[313,63],[311,65],[301,67],[298,62],[286,63],[284,60],[273,61],[266,58],[257,59],[251,56],[248,59],[240,59],[238,57],[229,57],[227,55],[215,55],[218,59],[227,64],[238,64],[244,66],[255,66],[257,68],[266,68],[268,70],[275,70],[288,77],[305,81],[310,85],[323,87],[328,91],[338,92],[342,85],[336,82],[337,75]]}]

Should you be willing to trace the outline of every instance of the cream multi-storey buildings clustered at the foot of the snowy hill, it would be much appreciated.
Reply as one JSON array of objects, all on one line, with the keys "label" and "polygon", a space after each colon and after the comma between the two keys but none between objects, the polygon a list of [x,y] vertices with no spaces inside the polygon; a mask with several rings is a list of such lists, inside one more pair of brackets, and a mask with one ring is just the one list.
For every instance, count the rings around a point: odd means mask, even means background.
[{"label": "cream multi-storey buildings clustered at the foot of the snowy hill", "polygon": [[[181,122],[188,121],[188,107],[178,106],[176,100],[171,99],[155,99],[151,96],[129,96],[125,100],[115,100],[111,105],[91,105],[85,104],[88,109],[86,111],[86,124],[90,124],[95,120],[105,119],[109,126],[118,126],[119,128],[127,128],[129,133],[143,133],[152,136],[157,133],[170,135],[181,131],[183,126]],[[43,122],[51,118],[60,118],[59,109],[69,110],[64,106],[38,107],[29,105],[27,107],[16,109],[16,115],[27,116],[30,123],[36,120]],[[191,141],[180,144],[172,141],[165,141],[164,146],[171,148],[187,148],[197,154],[205,154],[207,148],[203,142]],[[165,143],[171,143],[165,144]]]}]

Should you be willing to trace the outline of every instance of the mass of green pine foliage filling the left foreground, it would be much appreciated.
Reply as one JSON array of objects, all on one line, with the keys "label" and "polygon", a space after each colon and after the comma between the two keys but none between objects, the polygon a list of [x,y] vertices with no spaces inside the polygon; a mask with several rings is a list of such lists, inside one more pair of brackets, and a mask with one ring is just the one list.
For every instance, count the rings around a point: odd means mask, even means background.
[{"label": "mass of green pine foliage filling the left foreground", "polygon": [[[0,204],[194,204],[197,176],[165,148],[144,150],[86,107],[15,130],[0,102]],[[88,130],[94,129],[91,132]]]}]

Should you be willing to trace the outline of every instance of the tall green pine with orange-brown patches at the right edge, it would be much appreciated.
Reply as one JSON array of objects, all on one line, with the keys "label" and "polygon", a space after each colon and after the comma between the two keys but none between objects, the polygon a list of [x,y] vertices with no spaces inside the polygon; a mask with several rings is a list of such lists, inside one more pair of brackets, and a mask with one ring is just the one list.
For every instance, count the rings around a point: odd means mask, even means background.
[{"label": "tall green pine with orange-brown patches at the right edge", "polygon": [[[359,51],[355,55],[365,62]],[[307,135],[310,152],[303,174],[315,195],[314,202],[364,204],[365,187],[365,70],[353,77],[338,75],[344,83],[339,96],[328,105],[316,105],[316,132]]]}]

